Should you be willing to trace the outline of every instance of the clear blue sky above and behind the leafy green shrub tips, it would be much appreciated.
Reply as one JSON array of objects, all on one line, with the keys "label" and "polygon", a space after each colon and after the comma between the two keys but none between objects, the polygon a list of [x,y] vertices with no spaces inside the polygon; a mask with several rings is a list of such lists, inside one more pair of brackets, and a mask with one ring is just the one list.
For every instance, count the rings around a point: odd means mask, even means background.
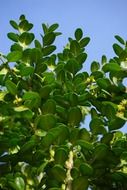
[{"label": "clear blue sky above and behind the leafy green shrub tips", "polygon": [[[114,35],[127,40],[126,0],[1,0],[0,1],[0,52],[7,53],[11,42],[6,34],[10,32],[10,19],[18,19],[25,14],[34,24],[34,32],[39,38],[42,23],[59,23],[63,33],[56,45],[61,50],[74,30],[81,27],[90,36],[87,48],[89,69],[93,60],[100,61],[103,54],[114,56],[112,44]],[[13,31],[13,30],[12,30]]]}]

